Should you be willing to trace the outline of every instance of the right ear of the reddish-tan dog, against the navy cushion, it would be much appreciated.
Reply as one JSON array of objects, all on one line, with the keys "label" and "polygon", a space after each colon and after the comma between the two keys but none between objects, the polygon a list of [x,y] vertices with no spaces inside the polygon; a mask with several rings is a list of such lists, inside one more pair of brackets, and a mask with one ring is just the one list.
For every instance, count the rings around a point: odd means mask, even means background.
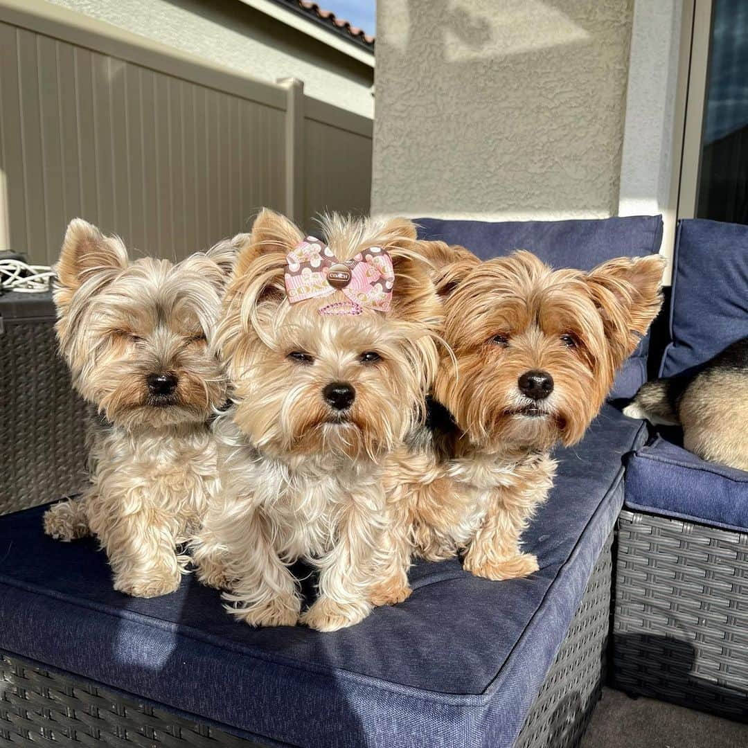
[{"label": "right ear of the reddish-tan dog, against the navy cushion", "polygon": [[660,255],[618,257],[598,265],[586,276],[613,349],[616,367],[636,349],[662,306]]}]

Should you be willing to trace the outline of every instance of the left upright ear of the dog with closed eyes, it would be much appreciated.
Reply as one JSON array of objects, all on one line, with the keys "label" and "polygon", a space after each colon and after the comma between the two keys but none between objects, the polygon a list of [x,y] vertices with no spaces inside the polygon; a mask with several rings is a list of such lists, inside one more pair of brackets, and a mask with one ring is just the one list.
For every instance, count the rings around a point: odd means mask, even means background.
[{"label": "left upright ear of the dog with closed eyes", "polygon": [[104,236],[93,224],[73,218],[68,224],[60,259],[55,266],[57,289],[55,303],[65,309],[73,294],[87,281],[96,278],[91,287],[96,292],[129,262],[125,245],[117,236]]}]

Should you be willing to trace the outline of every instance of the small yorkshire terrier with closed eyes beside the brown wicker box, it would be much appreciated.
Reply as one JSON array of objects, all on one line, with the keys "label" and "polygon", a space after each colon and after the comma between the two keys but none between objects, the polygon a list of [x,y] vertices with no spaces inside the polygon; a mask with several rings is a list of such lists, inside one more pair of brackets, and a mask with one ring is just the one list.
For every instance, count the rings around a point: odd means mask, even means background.
[{"label": "small yorkshire terrier with closed eyes beside the brown wicker box", "polygon": [[93,533],[127,595],[177,589],[188,562],[178,549],[215,492],[209,420],[226,388],[207,338],[234,254],[223,245],[177,265],[130,260],[116,236],[81,219],[67,227],[56,331],[97,415],[91,486],[48,509],[44,527],[66,541]]}]

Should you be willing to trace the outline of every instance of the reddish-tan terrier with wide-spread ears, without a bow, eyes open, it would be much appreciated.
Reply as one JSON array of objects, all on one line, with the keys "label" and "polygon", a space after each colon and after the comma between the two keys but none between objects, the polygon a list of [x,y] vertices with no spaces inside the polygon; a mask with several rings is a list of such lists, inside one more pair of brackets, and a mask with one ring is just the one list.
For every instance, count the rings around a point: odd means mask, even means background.
[{"label": "reddish-tan terrier with wide-spread ears, without a bow, eyes open", "polygon": [[[553,485],[551,448],[582,438],[646,334],[662,303],[663,260],[554,272],[527,251],[483,263],[443,242],[423,251],[438,266],[451,353],[441,356],[430,423],[390,458],[397,525],[429,560],[462,553],[476,576],[524,577],[538,569],[521,534]],[[378,602],[408,593],[403,548]]]}]

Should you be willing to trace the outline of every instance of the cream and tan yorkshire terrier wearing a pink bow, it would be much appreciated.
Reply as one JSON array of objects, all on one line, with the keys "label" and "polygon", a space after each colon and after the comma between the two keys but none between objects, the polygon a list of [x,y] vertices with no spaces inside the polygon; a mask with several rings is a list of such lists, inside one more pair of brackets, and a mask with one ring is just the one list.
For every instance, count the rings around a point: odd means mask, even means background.
[{"label": "cream and tan yorkshire terrier wearing a pink bow", "polygon": [[[393,576],[384,459],[423,415],[441,303],[410,221],[321,226],[325,242],[263,210],[233,240],[215,334],[233,405],[215,423],[221,491],[193,556],[237,619],[333,631]],[[297,560],[319,571],[303,613]]]}]

